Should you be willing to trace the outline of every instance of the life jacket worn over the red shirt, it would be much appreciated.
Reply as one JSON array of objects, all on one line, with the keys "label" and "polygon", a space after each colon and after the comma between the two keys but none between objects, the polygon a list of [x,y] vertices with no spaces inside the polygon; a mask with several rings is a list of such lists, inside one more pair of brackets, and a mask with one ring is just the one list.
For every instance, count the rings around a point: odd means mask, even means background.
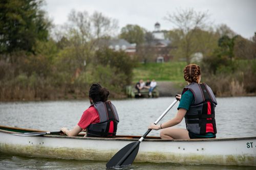
[{"label": "life jacket worn over the red shirt", "polygon": [[115,137],[119,117],[116,107],[110,102],[97,102],[91,105],[98,111],[100,122],[87,127],[88,137]]}]

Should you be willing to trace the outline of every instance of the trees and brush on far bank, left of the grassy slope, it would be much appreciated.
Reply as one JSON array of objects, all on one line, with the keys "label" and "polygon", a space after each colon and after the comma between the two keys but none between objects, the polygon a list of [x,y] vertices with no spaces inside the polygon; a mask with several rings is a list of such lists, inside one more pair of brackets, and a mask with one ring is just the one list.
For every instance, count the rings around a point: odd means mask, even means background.
[{"label": "trees and brush on far bank, left of the grassy slope", "polygon": [[117,31],[117,20],[73,10],[65,25],[54,27],[42,5],[0,3],[0,100],[84,99],[94,82],[112,98],[123,97],[134,59],[102,43]]}]

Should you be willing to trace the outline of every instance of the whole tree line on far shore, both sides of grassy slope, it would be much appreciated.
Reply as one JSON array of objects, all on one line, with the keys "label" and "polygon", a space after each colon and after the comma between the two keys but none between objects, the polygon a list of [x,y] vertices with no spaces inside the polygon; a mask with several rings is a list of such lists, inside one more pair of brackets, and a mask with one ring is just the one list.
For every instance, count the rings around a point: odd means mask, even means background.
[{"label": "whole tree line on far shore, both sides of grassy slope", "polygon": [[[100,12],[75,10],[69,13],[67,23],[54,26],[41,8],[44,3],[0,3],[0,100],[87,98],[94,82],[108,87],[112,98],[124,97],[123,89],[132,83],[136,63],[154,57],[152,33],[138,25],[127,25],[117,34],[116,19]],[[193,9],[178,10],[166,20],[177,26],[164,31],[172,42],[169,53],[174,60],[190,63],[200,52],[206,81],[216,82],[222,76],[222,86],[231,83],[230,88],[242,88],[241,94],[255,92],[256,35],[248,40],[225,25],[214,30],[208,27],[207,13]],[[131,57],[110,50],[108,40],[112,38],[136,43],[137,54]],[[222,86],[219,89],[216,85],[217,93],[230,93]]]}]

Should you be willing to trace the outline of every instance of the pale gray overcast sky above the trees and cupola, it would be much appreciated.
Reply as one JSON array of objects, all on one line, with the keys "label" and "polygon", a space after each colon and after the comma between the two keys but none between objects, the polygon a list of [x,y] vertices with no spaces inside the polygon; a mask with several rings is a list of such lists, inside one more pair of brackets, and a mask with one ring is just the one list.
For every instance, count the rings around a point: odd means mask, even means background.
[{"label": "pale gray overcast sky above the trees and cupola", "polygon": [[167,13],[177,9],[193,8],[208,11],[209,20],[215,26],[226,24],[237,34],[250,38],[256,32],[256,0],[46,0],[44,9],[53,22],[61,25],[68,19],[72,9],[76,11],[101,12],[115,18],[119,28],[137,24],[148,31],[154,30],[158,21],[161,29],[171,30],[175,25],[163,19]]}]

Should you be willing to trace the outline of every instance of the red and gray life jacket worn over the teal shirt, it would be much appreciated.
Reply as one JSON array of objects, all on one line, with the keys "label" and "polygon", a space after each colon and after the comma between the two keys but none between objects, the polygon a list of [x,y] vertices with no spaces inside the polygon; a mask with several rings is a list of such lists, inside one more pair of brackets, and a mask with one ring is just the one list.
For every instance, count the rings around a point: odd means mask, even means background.
[{"label": "red and gray life jacket worn over the teal shirt", "polygon": [[217,101],[211,88],[205,83],[191,83],[183,89],[182,94],[187,90],[190,90],[195,98],[195,103],[190,106],[185,115],[188,132],[196,135],[205,135],[208,132],[216,134],[215,107]]}]

